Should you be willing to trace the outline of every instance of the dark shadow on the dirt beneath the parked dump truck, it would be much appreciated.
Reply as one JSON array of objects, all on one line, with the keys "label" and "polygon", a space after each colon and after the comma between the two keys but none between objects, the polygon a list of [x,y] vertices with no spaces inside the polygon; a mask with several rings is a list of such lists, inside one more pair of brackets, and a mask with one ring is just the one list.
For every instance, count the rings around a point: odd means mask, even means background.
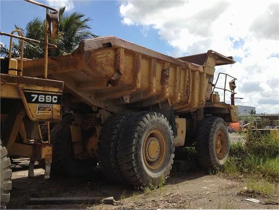
[{"label": "dark shadow on the dirt beneath the parked dump truck", "polygon": [[[175,185],[187,180],[194,180],[206,175],[185,160],[176,160],[173,170],[167,179],[167,185]],[[35,177],[28,178],[26,165],[13,169],[13,180],[9,209],[82,209],[89,204],[66,205],[29,205],[30,198],[47,197],[111,197],[119,201],[135,194],[143,194],[143,190],[125,184],[110,182],[103,175],[101,167],[82,177],[55,176],[48,180],[43,179],[43,169],[35,169]]]}]

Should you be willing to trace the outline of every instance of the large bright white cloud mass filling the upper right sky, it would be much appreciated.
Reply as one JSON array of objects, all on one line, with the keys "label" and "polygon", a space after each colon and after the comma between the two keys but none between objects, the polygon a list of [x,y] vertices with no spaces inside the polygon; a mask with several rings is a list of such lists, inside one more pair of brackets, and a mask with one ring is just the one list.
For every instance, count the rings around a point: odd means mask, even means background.
[{"label": "large bright white cloud mass filling the upper right sky", "polygon": [[[239,105],[257,113],[278,113],[279,2],[153,0],[121,1],[122,23],[158,31],[178,57],[208,49],[234,56],[232,66],[217,67],[237,77]],[[275,103],[275,104],[274,104]]]}]

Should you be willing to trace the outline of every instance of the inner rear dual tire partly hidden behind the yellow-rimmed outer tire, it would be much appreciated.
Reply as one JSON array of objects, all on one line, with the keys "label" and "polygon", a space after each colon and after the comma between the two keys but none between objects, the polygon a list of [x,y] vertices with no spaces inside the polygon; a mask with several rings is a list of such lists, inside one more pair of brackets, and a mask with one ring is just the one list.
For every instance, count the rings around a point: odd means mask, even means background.
[{"label": "inner rear dual tire partly hidden behind the yellow-rimmed outer tire", "polygon": [[99,165],[104,168],[106,177],[113,182],[123,181],[118,164],[117,145],[120,132],[131,115],[132,113],[113,115],[106,121],[99,136]]}]

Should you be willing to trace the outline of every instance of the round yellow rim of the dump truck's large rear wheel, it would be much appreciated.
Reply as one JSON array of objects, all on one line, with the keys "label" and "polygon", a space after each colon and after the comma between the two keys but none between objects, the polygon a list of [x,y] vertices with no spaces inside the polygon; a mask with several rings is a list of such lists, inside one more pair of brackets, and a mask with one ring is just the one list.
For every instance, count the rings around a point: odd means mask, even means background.
[{"label": "round yellow rim of the dump truck's large rear wheel", "polygon": [[166,143],[158,129],[152,129],[143,142],[143,159],[150,170],[157,170],[163,164],[166,155]]}]

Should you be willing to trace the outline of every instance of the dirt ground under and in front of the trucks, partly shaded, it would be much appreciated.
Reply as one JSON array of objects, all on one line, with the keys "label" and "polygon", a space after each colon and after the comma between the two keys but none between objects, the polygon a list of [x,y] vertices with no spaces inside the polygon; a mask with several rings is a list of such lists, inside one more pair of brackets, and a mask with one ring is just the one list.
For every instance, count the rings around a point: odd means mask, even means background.
[{"label": "dirt ground under and in front of the trucks, partly shaded", "polygon": [[[28,178],[28,167],[22,165],[13,167],[8,209],[279,209],[279,205],[268,204],[279,202],[276,195],[267,198],[241,193],[244,187],[242,181],[208,175],[197,168],[184,172],[172,171],[164,187],[148,193],[111,183],[104,178],[102,168],[98,166],[86,177],[52,177],[44,180],[43,169],[35,169],[35,177]],[[178,165],[181,166],[181,162]],[[177,163],[174,169],[176,166]],[[111,196],[115,200],[113,204],[29,204],[30,198],[40,197]],[[246,201],[246,198],[254,198],[262,203]]]}]

